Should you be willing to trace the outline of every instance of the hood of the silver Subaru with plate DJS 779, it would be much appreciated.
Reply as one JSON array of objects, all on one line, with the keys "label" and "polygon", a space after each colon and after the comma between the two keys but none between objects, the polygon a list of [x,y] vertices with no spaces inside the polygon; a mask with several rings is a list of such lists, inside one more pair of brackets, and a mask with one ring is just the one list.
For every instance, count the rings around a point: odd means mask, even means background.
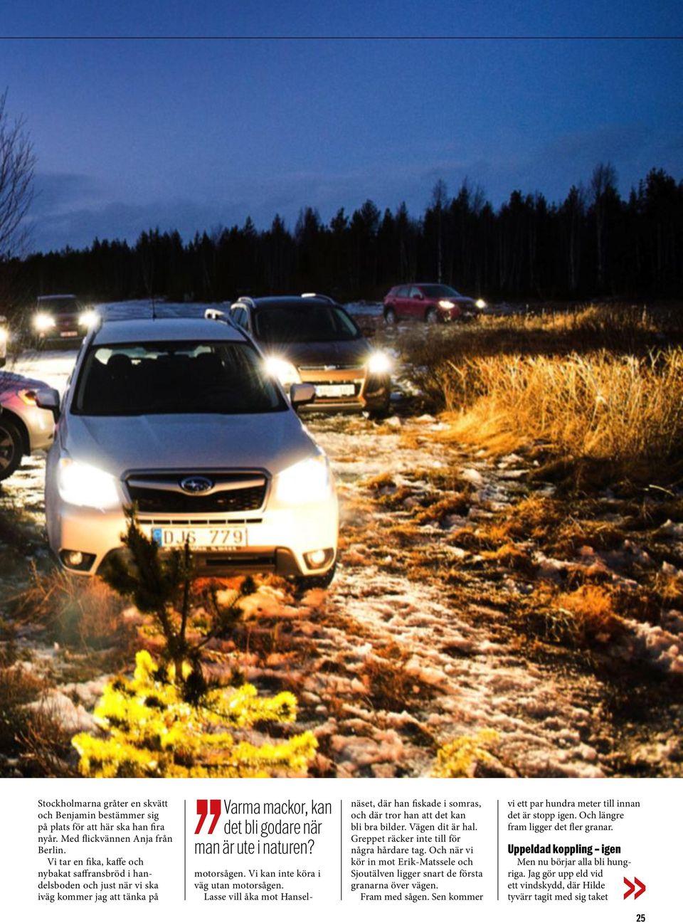
[{"label": "hood of the silver Subaru with plate DJS 779", "polygon": [[290,410],[234,416],[71,416],[64,444],[72,458],[115,476],[221,468],[264,468],[275,474],[317,449]]}]

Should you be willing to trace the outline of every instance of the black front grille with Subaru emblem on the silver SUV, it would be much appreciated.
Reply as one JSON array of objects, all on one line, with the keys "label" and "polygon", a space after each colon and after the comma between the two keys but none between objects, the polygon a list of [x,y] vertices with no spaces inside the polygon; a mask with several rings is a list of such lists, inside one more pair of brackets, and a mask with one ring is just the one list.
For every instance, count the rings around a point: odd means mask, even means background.
[{"label": "black front grille with Subaru emblem on the silver SUV", "polygon": [[210,492],[188,493],[180,486],[191,473],[130,474],[126,487],[140,513],[234,513],[261,509],[268,479],[263,473],[205,473]]}]

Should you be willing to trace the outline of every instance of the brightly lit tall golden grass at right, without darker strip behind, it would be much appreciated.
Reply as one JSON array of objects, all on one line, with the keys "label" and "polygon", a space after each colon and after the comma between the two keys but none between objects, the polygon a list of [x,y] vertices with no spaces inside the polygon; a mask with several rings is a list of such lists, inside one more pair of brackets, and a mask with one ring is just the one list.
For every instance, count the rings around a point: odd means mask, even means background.
[{"label": "brightly lit tall golden grass at right, without darker strip behind", "polygon": [[[570,457],[645,465],[683,450],[683,349],[647,358],[605,352],[467,362],[473,403],[452,414],[450,438],[498,449],[543,441]],[[453,369],[459,376],[461,369]]]}]

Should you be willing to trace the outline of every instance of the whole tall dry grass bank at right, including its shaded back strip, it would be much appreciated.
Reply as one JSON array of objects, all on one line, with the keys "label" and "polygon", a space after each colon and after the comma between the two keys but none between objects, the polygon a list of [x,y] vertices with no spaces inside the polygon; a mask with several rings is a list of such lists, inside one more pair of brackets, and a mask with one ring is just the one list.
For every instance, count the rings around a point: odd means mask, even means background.
[{"label": "whole tall dry grass bank at right, including its shaded back strip", "polygon": [[682,319],[640,306],[484,318],[408,353],[450,438],[497,454],[543,446],[588,486],[591,461],[641,482],[683,455]]}]

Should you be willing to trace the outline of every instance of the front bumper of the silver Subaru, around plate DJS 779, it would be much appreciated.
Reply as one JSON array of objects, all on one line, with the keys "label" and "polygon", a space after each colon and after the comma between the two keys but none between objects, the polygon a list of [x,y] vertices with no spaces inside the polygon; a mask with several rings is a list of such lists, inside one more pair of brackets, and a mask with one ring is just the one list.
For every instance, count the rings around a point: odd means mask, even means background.
[{"label": "front bumper of the silver Subaru, around plate DJS 779", "polygon": [[[60,502],[56,515],[48,523],[50,546],[62,567],[72,573],[96,574],[112,554],[124,552],[123,537],[127,523],[123,509],[102,511]],[[316,503],[302,503],[287,509],[265,509],[258,513],[229,516],[198,513],[173,516],[141,513],[137,518],[140,530],[150,535],[156,527],[190,529],[209,526],[217,529],[246,529],[244,547],[193,549],[198,574],[217,577],[247,573],[277,573],[286,577],[318,576],[327,573],[337,556],[339,511],[337,497]],[[306,564],[306,555],[325,549],[328,552],[321,567]],[[70,567],[65,560],[67,551],[78,551],[86,566]]]}]

